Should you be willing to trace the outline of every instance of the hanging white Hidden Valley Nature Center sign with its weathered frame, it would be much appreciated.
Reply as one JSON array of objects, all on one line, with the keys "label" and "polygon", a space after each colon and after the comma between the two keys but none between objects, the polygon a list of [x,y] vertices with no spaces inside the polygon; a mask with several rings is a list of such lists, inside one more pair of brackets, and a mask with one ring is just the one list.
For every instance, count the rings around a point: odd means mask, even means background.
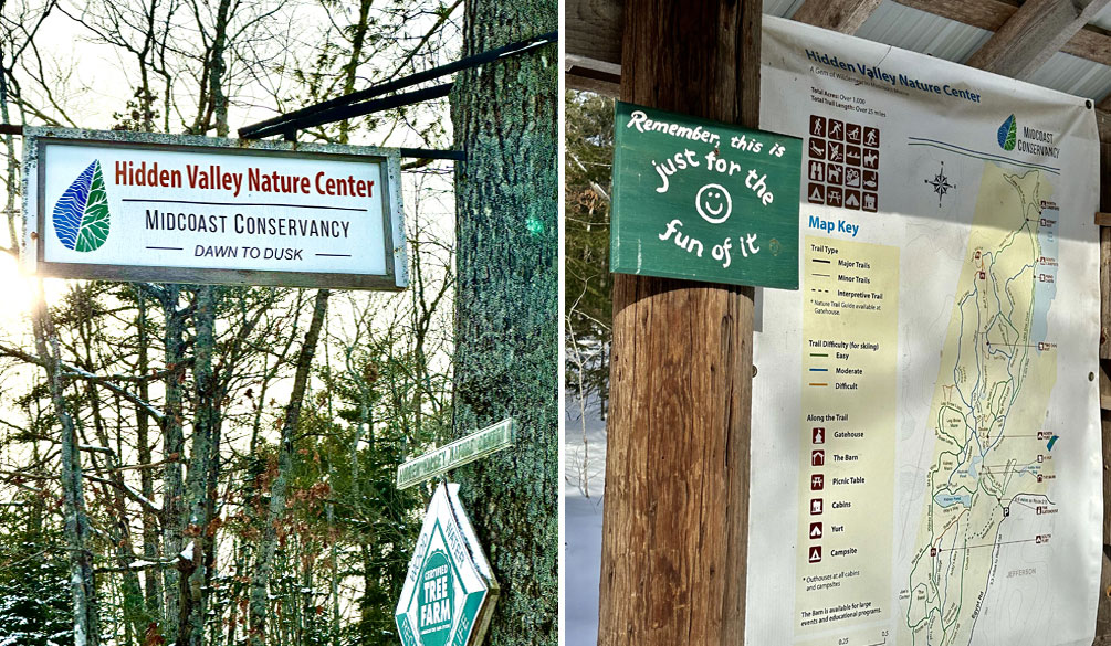
[{"label": "hanging white Hidden Valley Nature Center sign with its weathered frame", "polygon": [[397,150],[29,128],[42,275],[399,290]]}]

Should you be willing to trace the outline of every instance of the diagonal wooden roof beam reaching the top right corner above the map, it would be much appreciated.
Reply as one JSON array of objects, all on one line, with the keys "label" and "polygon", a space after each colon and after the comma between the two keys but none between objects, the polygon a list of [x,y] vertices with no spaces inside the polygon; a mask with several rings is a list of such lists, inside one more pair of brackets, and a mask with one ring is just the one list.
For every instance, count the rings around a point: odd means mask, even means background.
[{"label": "diagonal wooden roof beam reaching the top right corner above the map", "polygon": [[1029,79],[1111,0],[1027,0],[965,64]]}]

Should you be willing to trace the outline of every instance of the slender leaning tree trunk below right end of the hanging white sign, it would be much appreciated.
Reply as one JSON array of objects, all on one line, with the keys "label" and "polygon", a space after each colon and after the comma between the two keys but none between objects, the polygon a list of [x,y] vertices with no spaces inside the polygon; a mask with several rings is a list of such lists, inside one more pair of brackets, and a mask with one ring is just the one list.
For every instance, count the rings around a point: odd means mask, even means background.
[{"label": "slender leaning tree trunk below right end of the hanging white sign", "polygon": [[262,538],[259,543],[259,557],[251,577],[250,599],[250,646],[266,646],[267,642],[267,588],[270,585],[270,573],[273,569],[274,552],[278,548],[278,525],[286,514],[286,495],[289,489],[289,477],[293,471],[293,438],[301,420],[301,404],[309,385],[309,372],[312,369],[312,357],[317,351],[317,341],[328,313],[328,290],[317,292],[317,301],[312,309],[312,323],[304,335],[304,344],[297,357],[297,373],[293,376],[293,391],[286,407],[286,418],[282,422],[281,444],[278,447],[278,476],[270,485],[270,508],[262,525]]}]

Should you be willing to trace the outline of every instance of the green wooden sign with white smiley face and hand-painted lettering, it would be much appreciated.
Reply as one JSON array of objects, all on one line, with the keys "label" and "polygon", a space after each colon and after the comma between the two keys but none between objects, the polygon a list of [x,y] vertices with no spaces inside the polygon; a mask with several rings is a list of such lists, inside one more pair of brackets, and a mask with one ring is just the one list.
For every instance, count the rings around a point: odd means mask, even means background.
[{"label": "green wooden sign with white smiley face and hand-painted lettering", "polygon": [[618,102],[610,270],[799,289],[802,140]]}]

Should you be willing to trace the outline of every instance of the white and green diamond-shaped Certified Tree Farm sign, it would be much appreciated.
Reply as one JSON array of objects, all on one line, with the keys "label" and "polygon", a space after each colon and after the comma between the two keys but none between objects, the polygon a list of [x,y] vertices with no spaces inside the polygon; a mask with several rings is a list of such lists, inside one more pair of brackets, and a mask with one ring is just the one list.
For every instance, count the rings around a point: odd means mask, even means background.
[{"label": "white and green diamond-shaped Certified Tree Farm sign", "polygon": [[478,646],[498,582],[459,502],[441,484],[424,515],[394,619],[403,646]]}]

